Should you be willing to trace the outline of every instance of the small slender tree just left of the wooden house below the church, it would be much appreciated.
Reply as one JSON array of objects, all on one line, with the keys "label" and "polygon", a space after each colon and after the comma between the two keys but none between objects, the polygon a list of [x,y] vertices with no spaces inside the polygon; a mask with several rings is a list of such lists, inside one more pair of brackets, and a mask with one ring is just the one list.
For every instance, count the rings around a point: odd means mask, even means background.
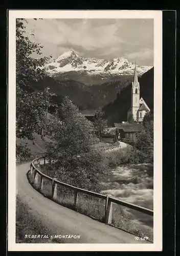
[{"label": "small slender tree just left of the wooden house below the church", "polygon": [[107,120],[103,119],[103,116],[104,112],[100,109],[95,114],[94,126],[95,132],[99,138],[101,138],[103,130],[107,127]]}]

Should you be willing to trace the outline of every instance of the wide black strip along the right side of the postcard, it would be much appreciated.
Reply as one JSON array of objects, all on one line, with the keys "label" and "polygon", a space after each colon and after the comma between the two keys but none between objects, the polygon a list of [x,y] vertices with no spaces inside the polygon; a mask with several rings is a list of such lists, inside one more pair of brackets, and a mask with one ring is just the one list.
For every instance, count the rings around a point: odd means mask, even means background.
[{"label": "wide black strip along the right side of the postcard", "polygon": [[175,246],[175,17],[173,11],[163,13],[163,250],[167,255]]}]

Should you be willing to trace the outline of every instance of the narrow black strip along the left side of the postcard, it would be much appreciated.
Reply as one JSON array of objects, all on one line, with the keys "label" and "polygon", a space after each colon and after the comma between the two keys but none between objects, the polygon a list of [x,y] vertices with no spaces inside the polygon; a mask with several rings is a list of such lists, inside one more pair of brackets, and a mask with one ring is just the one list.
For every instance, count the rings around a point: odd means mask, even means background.
[{"label": "narrow black strip along the left side of the postcard", "polygon": [[0,185],[0,220],[1,220],[1,241],[2,241],[2,251],[6,254],[6,246],[7,246],[7,42],[6,42],[6,34],[7,34],[7,22],[6,22],[6,14],[2,8],[0,8],[0,31],[1,31],[1,51],[0,51],[0,78],[1,78],[1,93],[0,93],[0,116],[1,116],[1,125],[0,125],[0,149],[1,149],[1,185]]}]

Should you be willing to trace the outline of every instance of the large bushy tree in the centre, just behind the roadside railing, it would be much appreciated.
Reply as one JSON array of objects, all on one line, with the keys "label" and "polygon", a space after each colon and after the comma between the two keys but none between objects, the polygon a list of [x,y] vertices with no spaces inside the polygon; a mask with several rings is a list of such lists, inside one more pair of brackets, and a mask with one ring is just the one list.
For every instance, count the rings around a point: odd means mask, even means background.
[{"label": "large bushy tree in the centre, just behind the roadside railing", "polygon": [[94,126],[72,101],[65,97],[61,105],[62,121],[51,125],[51,142],[47,151],[51,164],[48,169],[60,181],[85,188],[98,190],[97,185],[106,168],[103,154],[96,148],[98,141]]}]

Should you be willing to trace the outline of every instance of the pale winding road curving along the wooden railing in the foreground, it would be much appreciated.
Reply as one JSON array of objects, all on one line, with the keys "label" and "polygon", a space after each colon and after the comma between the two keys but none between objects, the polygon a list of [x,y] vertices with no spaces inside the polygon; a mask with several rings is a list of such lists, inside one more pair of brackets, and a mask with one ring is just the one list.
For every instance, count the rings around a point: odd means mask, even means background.
[{"label": "pale winding road curving along the wooden railing in the foreground", "polygon": [[17,193],[29,205],[32,214],[53,231],[52,235],[80,235],[79,239],[65,239],[63,243],[148,243],[43,197],[28,182],[29,168],[30,163],[16,166]]}]

